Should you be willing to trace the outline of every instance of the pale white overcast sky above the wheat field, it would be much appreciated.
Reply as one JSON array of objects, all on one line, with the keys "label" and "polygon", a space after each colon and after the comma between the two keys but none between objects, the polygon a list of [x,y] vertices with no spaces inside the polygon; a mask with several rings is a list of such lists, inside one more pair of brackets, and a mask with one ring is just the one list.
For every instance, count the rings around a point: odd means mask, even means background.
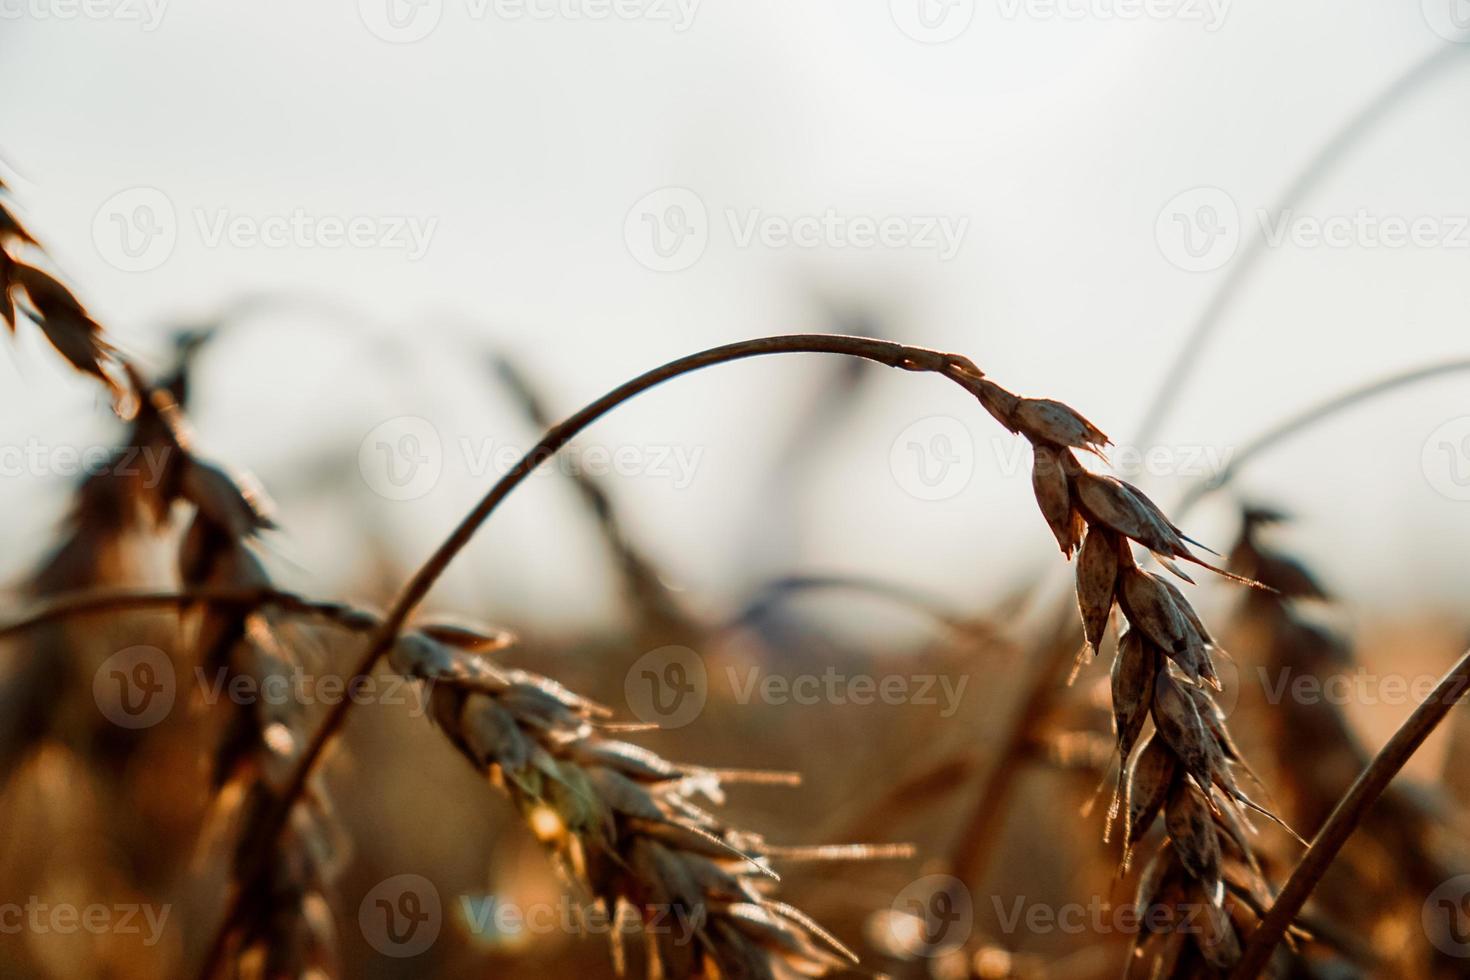
[{"label": "pale white overcast sky above the wheat field", "polygon": [[[1436,0],[1427,15],[1413,1],[1238,1],[1214,31],[1189,16],[1213,16],[1202,3],[1122,21],[1098,16],[1114,0],[1063,4],[1082,16],[980,1],[945,44],[907,37],[886,0],[704,0],[686,31],[495,7],[476,18],[469,0],[444,0],[437,29],[409,44],[375,37],[350,0],[173,0],[151,31],[122,16],[57,19],[66,1],[0,0],[0,156],[32,229],[116,339],[156,360],[163,326],[263,291],[354,311],[251,317],[201,363],[194,407],[206,450],[275,489],[282,576],[322,594],[341,585],[369,522],[406,558],[428,554],[490,479],[467,472],[462,436],[534,438],[467,338],[516,354],[569,411],[682,353],[829,329],[820,298],[831,297],[876,310],[900,339],[970,354],[1016,391],[1064,400],[1127,444],[1227,270],[1170,263],[1155,237],[1166,203],[1223,188],[1244,234],[1257,234],[1255,210],[1345,119],[1452,44],[1429,26]],[[1445,234],[1470,215],[1470,46],[1460,47],[1464,65],[1357,145],[1295,201],[1299,213],[1438,216]],[[123,272],[93,225],[140,185],[166,194],[178,242],[157,267]],[[625,217],[670,185],[707,207],[709,247],[689,269],[654,272],[629,250]],[[297,209],[437,226],[410,260],[394,248],[212,247],[197,217]],[[950,260],[925,248],[739,247],[728,209],[741,220],[753,209],[781,219],[833,209],[969,225]],[[1470,231],[1458,235],[1458,247],[1270,250],[1164,441],[1229,453],[1349,385],[1470,356]],[[94,389],[53,361],[34,331],[0,359],[0,445],[106,438]],[[753,523],[769,504],[784,419],[823,367],[788,357],[716,369],[589,435],[701,453],[686,488],[653,476],[612,485],[701,601],[722,605],[769,574],[842,570],[972,602],[1060,563],[1026,467],[1004,472],[1010,438],[958,389],[900,372],[870,379],[791,500],[798,536],[773,516],[781,533],[761,539]],[[357,447],[404,414],[434,422],[447,463],[428,495],[385,501],[357,475]],[[973,476],[942,501],[917,500],[891,464],[894,441],[929,416],[973,438]],[[1301,516],[1292,547],[1352,601],[1454,602],[1470,586],[1470,502],[1436,491],[1446,475],[1421,457],[1461,416],[1470,375],[1322,426],[1241,488]],[[335,466],[351,500],[294,489],[312,461]],[[1470,455],[1458,461],[1470,476]],[[1145,482],[1166,505],[1183,486]],[[4,558],[10,577],[44,547],[68,483],[47,472],[0,479],[19,544]],[[1225,516],[1201,513],[1197,536],[1227,544]],[[441,602],[484,595],[584,621],[610,608],[598,563],[573,498],[556,479],[534,480]]]}]

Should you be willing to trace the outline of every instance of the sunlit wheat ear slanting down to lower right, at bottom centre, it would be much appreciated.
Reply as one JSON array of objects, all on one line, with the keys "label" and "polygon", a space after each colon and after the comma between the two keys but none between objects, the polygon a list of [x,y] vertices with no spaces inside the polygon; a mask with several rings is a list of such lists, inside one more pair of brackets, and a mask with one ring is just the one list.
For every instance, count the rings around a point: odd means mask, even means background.
[{"label": "sunlit wheat ear slanting down to lower right, at bottom centre", "polygon": [[[722,802],[722,786],[750,774],[679,765],[607,738],[600,705],[500,669],[442,632],[403,635],[390,661],[426,683],[445,736],[510,795],[567,874],[610,912],[642,918],[653,976],[816,976],[856,962],[816,923],[770,898],[779,849],[703,808],[701,799]],[[675,921],[694,927],[691,942],[669,927]]]}]

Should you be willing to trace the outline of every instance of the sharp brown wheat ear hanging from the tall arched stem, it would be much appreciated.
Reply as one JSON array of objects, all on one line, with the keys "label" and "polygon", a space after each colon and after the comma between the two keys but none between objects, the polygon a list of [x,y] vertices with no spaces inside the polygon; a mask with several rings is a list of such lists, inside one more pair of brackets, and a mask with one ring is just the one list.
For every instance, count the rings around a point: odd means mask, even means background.
[{"label": "sharp brown wheat ear hanging from the tall arched stem", "polygon": [[[1138,567],[1133,545],[1185,580],[1175,560],[1260,583],[1195,555],[1189,538],[1136,486],[1083,469],[1073,453],[1102,457],[1108,438],[1080,413],[1057,401],[1022,398],[983,378],[966,386],[1001,425],[1032,444],[1036,502],[1063,554],[1079,552],[1083,651],[1098,651],[1114,605],[1127,623],[1113,666],[1120,773],[1108,821],[1123,813],[1127,867],[1132,849],[1161,814],[1169,842],[1144,876],[1139,902],[1145,908],[1194,907],[1207,920],[1207,929],[1188,934],[1169,929],[1139,937],[1139,958],[1151,955],[1155,977],[1192,976],[1191,964],[1201,959],[1213,970],[1229,970],[1241,956],[1241,937],[1227,895],[1264,890],[1241,832],[1248,827],[1241,808],[1264,811],[1233,776],[1244,761],[1205,689],[1220,686],[1214,638],[1177,586]],[[1150,718],[1154,735],[1133,755]]]}]

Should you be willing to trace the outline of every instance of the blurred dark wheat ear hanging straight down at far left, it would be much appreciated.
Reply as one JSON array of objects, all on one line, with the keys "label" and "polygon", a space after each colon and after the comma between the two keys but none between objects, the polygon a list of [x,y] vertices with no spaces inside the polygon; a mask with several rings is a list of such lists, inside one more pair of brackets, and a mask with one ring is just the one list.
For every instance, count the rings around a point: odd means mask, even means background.
[{"label": "blurred dark wheat ear hanging straight down at far left", "polygon": [[[125,369],[134,389],[144,392],[140,419],[151,420],[165,444],[159,514],[168,514],[175,501],[193,507],[178,557],[179,580],[187,589],[273,594],[253,547],[260,532],[275,526],[263,495],[244,478],[201,458],[172,395],[148,386],[131,366]],[[290,680],[295,657],[279,639],[272,607],[206,602],[185,614],[194,620],[197,661],[226,685],[243,677],[262,691],[273,680]],[[337,976],[328,909],[338,858],[331,804],[319,785],[306,788],[290,807],[288,826],[270,830],[275,846],[257,860],[279,799],[278,780],[290,771],[304,736],[304,705],[257,699],[232,707],[215,749],[212,782],[238,827],[231,870],[237,880],[247,870],[251,879],[240,886],[240,911],[223,942],[237,948],[240,976]]]}]

